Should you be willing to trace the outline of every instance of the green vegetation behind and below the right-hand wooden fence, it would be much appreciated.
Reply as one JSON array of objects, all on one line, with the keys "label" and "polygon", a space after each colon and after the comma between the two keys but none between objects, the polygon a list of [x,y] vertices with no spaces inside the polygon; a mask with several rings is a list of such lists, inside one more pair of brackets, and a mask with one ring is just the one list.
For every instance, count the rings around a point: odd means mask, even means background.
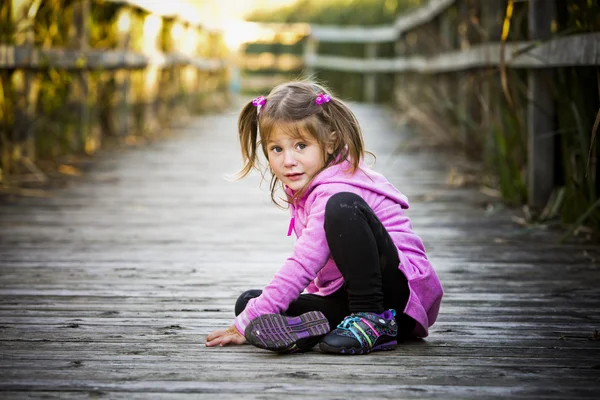
[{"label": "green vegetation behind and below the right-hand wooden fence", "polygon": [[[393,23],[399,14],[422,3],[425,1],[301,0],[279,10],[254,13],[248,20],[377,26]],[[599,3],[557,1],[553,36],[600,32]],[[493,21],[498,36],[504,25],[503,40],[507,43],[527,40],[528,3],[506,0],[505,4],[506,10]],[[457,1],[443,13],[447,29],[444,35],[439,21],[433,21],[408,32],[396,43],[378,44],[377,56],[435,55],[487,42],[491,26],[484,25],[480,18],[483,5]],[[466,14],[459,7],[466,7]],[[261,46],[260,51],[285,52],[277,45]],[[318,45],[319,54],[361,58],[365,52],[362,44]],[[341,97],[364,100],[361,74],[317,71],[317,77]],[[548,85],[557,110],[552,133],[557,186],[543,210],[530,210],[526,215],[532,215],[532,223],[564,224],[569,227],[568,235],[597,234],[600,72],[597,67],[556,68]],[[505,203],[522,206],[527,203],[527,87],[527,71],[506,66],[436,75],[382,74],[378,76],[377,100],[393,103],[430,141],[455,153],[459,149],[465,158],[481,165],[479,184],[497,190]]]}]

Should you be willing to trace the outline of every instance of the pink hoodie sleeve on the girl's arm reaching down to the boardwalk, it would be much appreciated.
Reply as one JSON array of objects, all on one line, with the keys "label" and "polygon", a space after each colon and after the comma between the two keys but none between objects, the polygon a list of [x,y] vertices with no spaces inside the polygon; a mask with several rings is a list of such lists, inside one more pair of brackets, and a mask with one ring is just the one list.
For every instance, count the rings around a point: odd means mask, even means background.
[{"label": "pink hoodie sleeve on the girl's arm reaching down to the boardwalk", "polygon": [[308,196],[306,228],[294,244],[292,254],[265,286],[262,294],[251,299],[246,309],[236,317],[235,326],[240,333],[244,334],[248,323],[260,315],[287,310],[329,259],[329,246],[323,225],[325,206],[332,194],[319,186]]}]

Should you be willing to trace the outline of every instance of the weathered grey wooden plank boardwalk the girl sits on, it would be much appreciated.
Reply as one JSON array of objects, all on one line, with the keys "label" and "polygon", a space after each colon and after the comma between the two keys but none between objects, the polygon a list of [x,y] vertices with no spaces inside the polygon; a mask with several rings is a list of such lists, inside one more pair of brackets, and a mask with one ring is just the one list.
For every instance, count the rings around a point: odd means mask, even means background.
[{"label": "weathered grey wooden plank boardwalk the girl sits on", "polygon": [[293,244],[267,184],[224,179],[241,162],[231,111],[1,204],[0,397],[598,398],[598,247],[448,188],[441,157],[397,152],[387,112],[353,107],[444,284],[430,337],[358,357],[204,346]]}]

